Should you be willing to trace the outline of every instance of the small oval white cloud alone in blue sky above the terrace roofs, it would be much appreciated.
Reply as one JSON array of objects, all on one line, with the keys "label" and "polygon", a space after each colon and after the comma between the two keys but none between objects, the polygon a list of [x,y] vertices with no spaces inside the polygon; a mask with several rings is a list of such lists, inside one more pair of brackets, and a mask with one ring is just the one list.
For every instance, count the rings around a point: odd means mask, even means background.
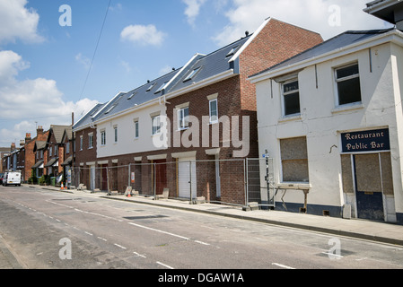
[{"label": "small oval white cloud alone in blue sky above the terrace roofs", "polygon": [[140,46],[160,46],[167,35],[150,24],[129,25],[120,33],[120,39]]}]

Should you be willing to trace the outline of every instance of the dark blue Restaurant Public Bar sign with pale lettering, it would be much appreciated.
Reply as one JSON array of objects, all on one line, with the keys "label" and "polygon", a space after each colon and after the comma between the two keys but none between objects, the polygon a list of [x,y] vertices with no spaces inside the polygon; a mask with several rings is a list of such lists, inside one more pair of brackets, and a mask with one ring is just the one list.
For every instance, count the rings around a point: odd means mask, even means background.
[{"label": "dark blue Restaurant Public Bar sign with pale lettering", "polygon": [[389,129],[341,134],[343,152],[389,151]]}]

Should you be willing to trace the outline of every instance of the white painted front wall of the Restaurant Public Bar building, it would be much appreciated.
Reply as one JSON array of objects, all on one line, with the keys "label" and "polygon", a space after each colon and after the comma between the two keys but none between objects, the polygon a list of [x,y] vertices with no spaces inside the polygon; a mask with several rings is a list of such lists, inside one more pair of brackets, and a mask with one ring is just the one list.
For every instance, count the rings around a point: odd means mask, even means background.
[{"label": "white painted front wall of the Restaurant Public Bar building", "polygon": [[[301,117],[289,120],[282,117],[281,85],[270,80],[256,83],[259,152],[263,154],[267,150],[270,157],[274,158],[276,184],[281,184],[279,140],[306,136],[311,185],[308,204],[342,206],[345,204],[345,196],[341,180],[340,133],[389,127],[396,212],[402,213],[402,59],[403,49],[392,43],[372,48],[372,73],[368,48],[329,59],[317,65],[318,88],[315,66],[304,68],[298,76]],[[334,68],[356,61],[360,69],[362,105],[337,107]],[[261,173],[261,178],[264,178],[265,170],[261,170]],[[262,182],[262,187],[264,184]],[[276,201],[281,201],[282,195],[279,193]],[[302,191],[289,190],[284,200],[303,203]]]}]

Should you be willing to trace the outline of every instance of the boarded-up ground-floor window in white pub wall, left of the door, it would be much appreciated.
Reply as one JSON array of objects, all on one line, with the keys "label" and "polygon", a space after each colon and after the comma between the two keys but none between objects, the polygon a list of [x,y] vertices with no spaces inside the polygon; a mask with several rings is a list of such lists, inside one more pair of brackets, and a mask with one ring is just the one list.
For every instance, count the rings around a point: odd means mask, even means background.
[{"label": "boarded-up ground-floor window in white pub wall, left of the door", "polygon": [[306,137],[280,141],[284,182],[309,182]]}]

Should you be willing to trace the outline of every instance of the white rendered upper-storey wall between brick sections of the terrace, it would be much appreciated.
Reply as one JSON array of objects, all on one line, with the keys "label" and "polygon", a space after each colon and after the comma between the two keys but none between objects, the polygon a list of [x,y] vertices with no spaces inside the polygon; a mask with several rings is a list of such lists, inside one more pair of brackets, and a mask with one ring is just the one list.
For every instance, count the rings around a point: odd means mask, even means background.
[{"label": "white rendered upper-storey wall between brick sections of the terrace", "polygon": [[[138,152],[152,152],[164,150],[167,146],[167,134],[164,132],[162,143],[164,146],[154,144],[160,143],[161,135],[152,135],[152,116],[160,113],[166,117],[166,107],[158,102],[152,106],[121,116],[114,117],[108,121],[97,124],[97,157],[104,158],[110,156],[118,156],[132,154]],[[135,138],[135,119],[139,121],[139,137]],[[115,143],[114,126],[118,126],[118,143]],[[106,131],[105,145],[101,145],[101,131]]]}]

